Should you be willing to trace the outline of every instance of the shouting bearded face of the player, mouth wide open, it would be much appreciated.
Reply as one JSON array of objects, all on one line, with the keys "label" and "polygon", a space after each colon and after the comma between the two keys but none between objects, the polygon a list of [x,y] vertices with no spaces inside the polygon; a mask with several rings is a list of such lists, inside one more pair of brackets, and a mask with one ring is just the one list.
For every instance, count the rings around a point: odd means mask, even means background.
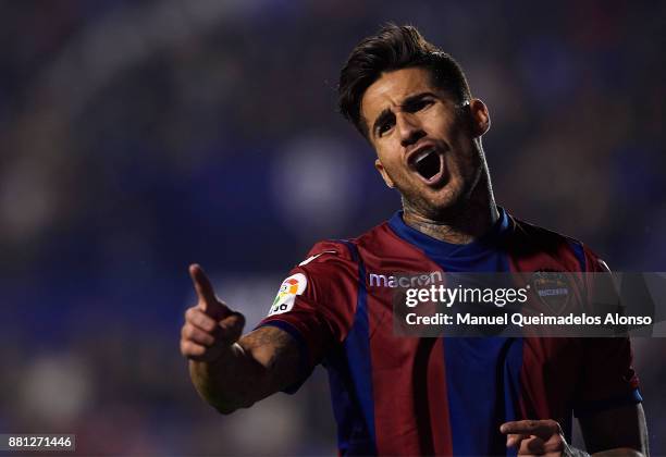
[{"label": "shouting bearded face of the player, mouth wide open", "polygon": [[406,209],[437,219],[470,198],[483,172],[480,136],[490,123],[483,102],[456,106],[428,70],[411,67],[384,73],[368,87],[361,114],[375,166]]}]

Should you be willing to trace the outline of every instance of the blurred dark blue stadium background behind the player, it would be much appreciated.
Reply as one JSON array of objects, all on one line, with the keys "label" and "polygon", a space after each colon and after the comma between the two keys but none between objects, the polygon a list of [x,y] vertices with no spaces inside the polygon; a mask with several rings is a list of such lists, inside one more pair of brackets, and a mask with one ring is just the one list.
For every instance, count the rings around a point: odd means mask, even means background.
[{"label": "blurred dark blue stadium background behind the player", "polygon": [[[334,112],[385,21],[455,55],[491,109],[501,205],[617,271],[666,270],[665,2],[0,3],[0,431],[86,455],[331,455],[324,373],[221,417],[177,341],[187,265],[252,326],[309,247],[398,198]],[[637,339],[654,454],[666,341]]]}]

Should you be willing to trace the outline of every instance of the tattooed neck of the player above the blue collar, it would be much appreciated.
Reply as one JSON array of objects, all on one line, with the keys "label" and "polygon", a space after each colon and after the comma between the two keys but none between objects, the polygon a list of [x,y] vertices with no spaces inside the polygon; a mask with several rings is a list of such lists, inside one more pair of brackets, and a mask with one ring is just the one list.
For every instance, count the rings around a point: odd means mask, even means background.
[{"label": "tattooed neck of the player above the blue collar", "polygon": [[[485,186],[481,186],[483,187]],[[478,198],[472,196],[460,205],[437,211],[436,220],[405,205],[403,219],[410,227],[435,239],[457,245],[472,243],[483,236],[499,219],[492,190],[477,194]]]}]

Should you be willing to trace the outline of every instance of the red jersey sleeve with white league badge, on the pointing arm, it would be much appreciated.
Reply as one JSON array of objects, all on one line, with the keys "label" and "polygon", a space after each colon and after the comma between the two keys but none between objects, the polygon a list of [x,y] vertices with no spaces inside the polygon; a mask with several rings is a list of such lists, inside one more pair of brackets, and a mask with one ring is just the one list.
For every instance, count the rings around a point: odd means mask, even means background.
[{"label": "red jersey sleeve with white league badge, on the pointing arm", "polygon": [[345,339],[356,312],[358,263],[347,246],[321,242],[308,256],[292,269],[258,325],[284,330],[300,347],[300,382],[287,393],[296,392],[326,351]]}]

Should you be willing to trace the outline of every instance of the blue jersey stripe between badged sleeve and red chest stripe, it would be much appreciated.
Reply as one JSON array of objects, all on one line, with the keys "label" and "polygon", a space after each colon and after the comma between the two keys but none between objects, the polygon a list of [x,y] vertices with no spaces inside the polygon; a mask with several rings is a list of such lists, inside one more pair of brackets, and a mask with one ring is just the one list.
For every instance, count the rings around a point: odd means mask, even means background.
[{"label": "blue jersey stripe between badged sleeve and red chest stripe", "polygon": [[[324,362],[331,382],[331,396],[338,427],[338,448],[345,455],[377,454],[372,366],[366,289],[366,265],[355,245],[341,240],[358,261],[358,296],[354,324],[341,351]],[[349,394],[354,397],[349,397]],[[358,409],[360,408],[360,411]],[[359,413],[360,412],[360,413]]]}]

